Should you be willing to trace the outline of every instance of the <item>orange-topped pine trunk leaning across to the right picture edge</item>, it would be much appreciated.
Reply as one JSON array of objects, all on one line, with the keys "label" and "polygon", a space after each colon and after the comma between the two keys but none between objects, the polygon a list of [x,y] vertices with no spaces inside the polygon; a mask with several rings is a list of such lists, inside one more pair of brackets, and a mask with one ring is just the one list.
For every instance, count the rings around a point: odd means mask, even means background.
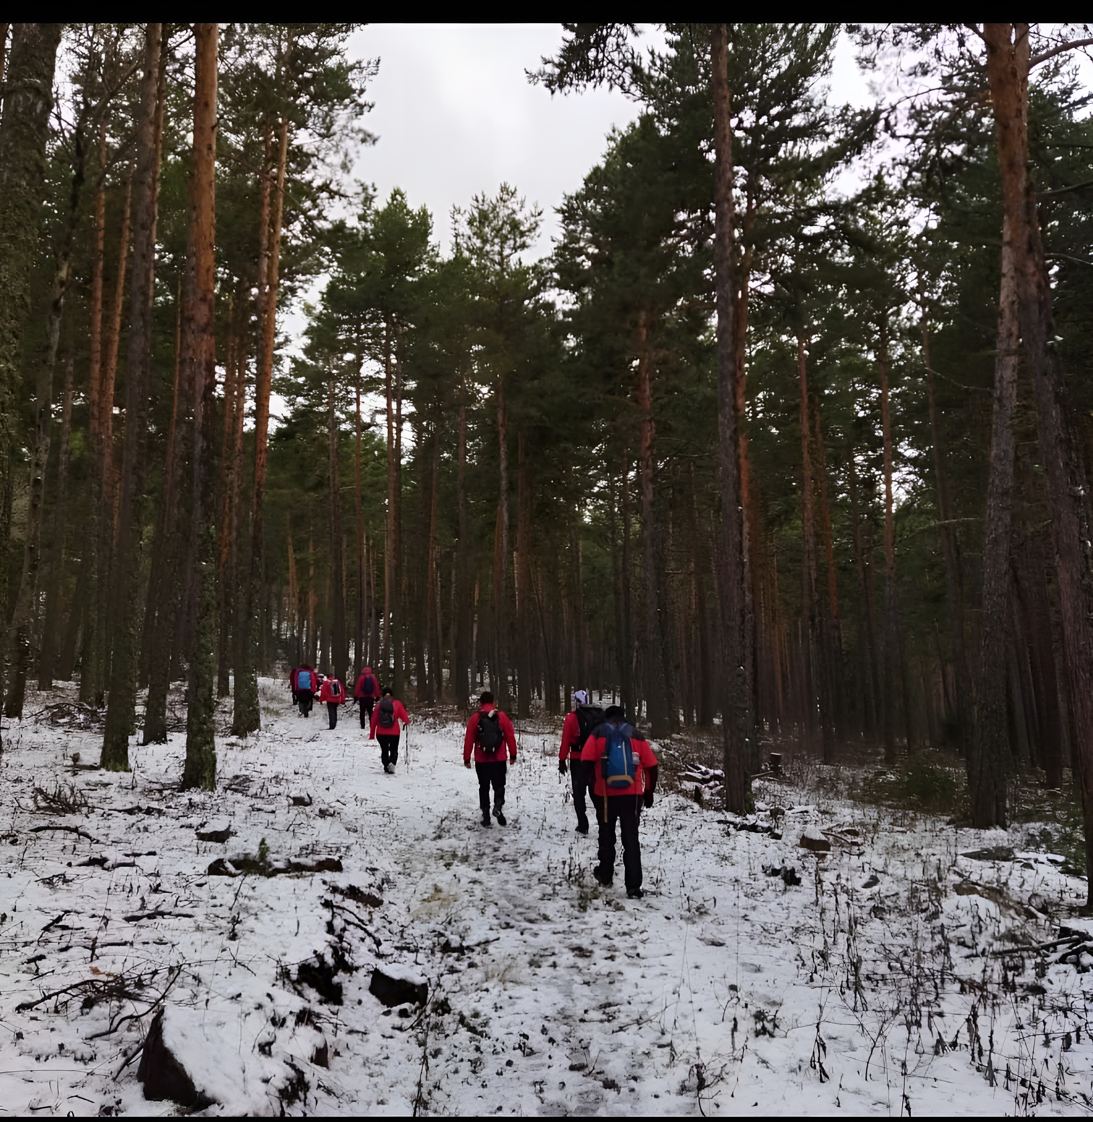
[{"label": "orange-topped pine trunk leaning across to the right picture edge", "polygon": [[1020,333],[1036,392],[1067,688],[1074,707],[1090,905],[1093,905],[1093,595],[1086,544],[1090,541],[1087,480],[1066,411],[1063,371],[1054,344],[1050,278],[1028,174],[1028,25],[984,24],[983,38],[994,107],[1002,204],[1013,248]]}]

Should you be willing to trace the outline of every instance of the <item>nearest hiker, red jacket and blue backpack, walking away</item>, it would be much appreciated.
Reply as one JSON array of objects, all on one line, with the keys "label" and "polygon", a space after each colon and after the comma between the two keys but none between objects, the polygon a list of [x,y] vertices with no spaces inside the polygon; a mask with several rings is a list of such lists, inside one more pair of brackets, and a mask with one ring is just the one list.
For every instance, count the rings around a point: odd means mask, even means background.
[{"label": "nearest hiker, red jacket and blue backpack, walking away", "polygon": [[594,767],[596,817],[600,822],[600,863],[592,875],[603,885],[614,877],[614,826],[622,834],[622,866],[627,895],[641,899],[641,846],[638,816],[652,806],[657,787],[657,757],[648,741],[627,723],[621,706],[608,706],[606,718],[589,737],[581,758]]}]

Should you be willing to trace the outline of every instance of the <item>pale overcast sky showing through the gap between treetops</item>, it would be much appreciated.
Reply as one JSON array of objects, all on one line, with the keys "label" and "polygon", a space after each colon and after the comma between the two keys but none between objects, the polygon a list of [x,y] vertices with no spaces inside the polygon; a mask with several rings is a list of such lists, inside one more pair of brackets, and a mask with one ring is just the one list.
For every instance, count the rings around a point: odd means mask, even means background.
[{"label": "pale overcast sky showing through the gap between treetops", "polygon": [[[612,126],[637,116],[621,93],[589,90],[552,98],[525,71],[562,42],[561,24],[371,24],[353,35],[355,58],[379,58],[368,128],[379,142],[355,177],[380,196],[402,187],[433,212],[448,248],[453,205],[511,183],[544,210],[539,251],[557,228],[554,208],[599,160]],[[643,42],[651,42],[649,34]],[[849,44],[841,44],[836,100],[867,96]]]}]

